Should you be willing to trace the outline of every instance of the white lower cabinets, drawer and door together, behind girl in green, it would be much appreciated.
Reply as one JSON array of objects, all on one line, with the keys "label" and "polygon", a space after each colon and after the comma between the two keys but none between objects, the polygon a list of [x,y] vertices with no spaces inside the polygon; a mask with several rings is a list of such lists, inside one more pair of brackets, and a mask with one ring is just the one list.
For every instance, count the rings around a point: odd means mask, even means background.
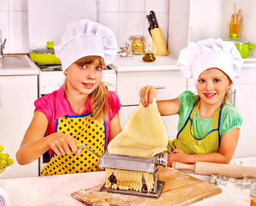
[{"label": "white lower cabinets, drawer and door together, behind girl in green", "polygon": [[[239,110],[243,118],[239,141],[233,158],[256,157],[256,68],[241,69],[241,73],[234,80],[231,87],[231,103]],[[193,80],[188,79],[187,90],[196,93]]]}]

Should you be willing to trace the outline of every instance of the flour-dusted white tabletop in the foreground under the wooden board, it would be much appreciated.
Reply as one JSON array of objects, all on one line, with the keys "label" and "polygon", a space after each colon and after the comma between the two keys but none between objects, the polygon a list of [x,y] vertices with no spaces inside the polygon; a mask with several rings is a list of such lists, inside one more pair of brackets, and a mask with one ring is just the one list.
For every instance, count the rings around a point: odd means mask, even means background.
[{"label": "flour-dusted white tabletop in the foreground under the wooden board", "polygon": [[[256,167],[256,157],[241,158],[244,166]],[[209,176],[187,174],[205,182]],[[12,206],[82,206],[83,204],[71,197],[71,193],[80,189],[87,189],[103,184],[105,172],[90,172],[79,174],[64,174],[45,177],[27,177],[0,180],[9,195]],[[226,186],[219,186],[221,194],[209,197],[192,206],[249,206],[250,189],[241,189],[236,183],[229,182]]]}]

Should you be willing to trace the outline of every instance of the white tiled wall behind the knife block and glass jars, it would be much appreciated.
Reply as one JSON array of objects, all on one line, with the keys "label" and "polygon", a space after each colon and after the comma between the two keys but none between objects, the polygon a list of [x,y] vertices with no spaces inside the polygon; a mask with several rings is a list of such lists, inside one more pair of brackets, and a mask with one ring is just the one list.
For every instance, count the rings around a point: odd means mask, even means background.
[{"label": "white tiled wall behind the knife block and glass jars", "polygon": [[120,47],[131,35],[150,37],[146,15],[151,10],[167,43],[169,0],[99,0],[99,23],[113,30]]}]

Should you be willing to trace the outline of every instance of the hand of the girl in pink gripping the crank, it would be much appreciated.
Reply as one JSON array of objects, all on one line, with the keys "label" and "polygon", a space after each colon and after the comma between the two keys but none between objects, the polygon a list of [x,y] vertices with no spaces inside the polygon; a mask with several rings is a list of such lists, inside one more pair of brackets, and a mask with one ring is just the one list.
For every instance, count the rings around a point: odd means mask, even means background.
[{"label": "hand of the girl in pink gripping the crank", "polygon": [[75,139],[70,135],[56,132],[50,134],[47,138],[48,145],[58,155],[71,154],[74,152],[78,157],[82,151],[82,148],[78,149],[76,147]]}]

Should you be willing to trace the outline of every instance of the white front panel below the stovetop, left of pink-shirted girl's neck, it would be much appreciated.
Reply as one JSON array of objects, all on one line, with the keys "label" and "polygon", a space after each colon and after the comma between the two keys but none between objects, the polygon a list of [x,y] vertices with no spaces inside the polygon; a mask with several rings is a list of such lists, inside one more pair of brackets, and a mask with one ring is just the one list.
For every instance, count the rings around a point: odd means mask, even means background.
[{"label": "white front panel below the stovetop, left of pink-shirted girl's neck", "polygon": [[63,75],[39,75],[39,95],[58,90],[64,83]]}]

